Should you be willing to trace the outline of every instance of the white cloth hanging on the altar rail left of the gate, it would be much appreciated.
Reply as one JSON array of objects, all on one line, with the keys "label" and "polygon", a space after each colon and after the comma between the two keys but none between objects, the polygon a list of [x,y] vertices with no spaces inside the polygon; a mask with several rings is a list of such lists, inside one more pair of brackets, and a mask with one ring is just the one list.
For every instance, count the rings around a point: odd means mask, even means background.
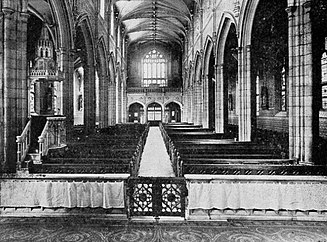
[{"label": "white cloth hanging on the altar rail left of the gate", "polygon": [[124,182],[3,180],[2,207],[124,208]]}]

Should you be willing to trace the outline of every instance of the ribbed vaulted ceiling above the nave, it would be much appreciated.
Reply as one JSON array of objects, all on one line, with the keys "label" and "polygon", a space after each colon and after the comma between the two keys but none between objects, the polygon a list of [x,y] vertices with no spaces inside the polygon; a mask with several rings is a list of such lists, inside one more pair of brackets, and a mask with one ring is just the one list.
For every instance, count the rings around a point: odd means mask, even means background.
[{"label": "ribbed vaulted ceiling above the nave", "polygon": [[183,44],[194,0],[116,0],[130,43]]}]

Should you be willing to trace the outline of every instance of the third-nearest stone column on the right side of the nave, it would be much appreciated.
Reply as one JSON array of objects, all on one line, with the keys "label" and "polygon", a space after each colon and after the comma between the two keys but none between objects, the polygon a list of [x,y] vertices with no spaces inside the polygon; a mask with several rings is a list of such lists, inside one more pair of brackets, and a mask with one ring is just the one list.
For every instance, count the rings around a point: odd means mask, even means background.
[{"label": "third-nearest stone column on the right side of the nave", "polygon": [[215,131],[216,133],[224,133],[225,117],[224,117],[224,65],[215,65],[216,76],[216,112],[215,112]]}]

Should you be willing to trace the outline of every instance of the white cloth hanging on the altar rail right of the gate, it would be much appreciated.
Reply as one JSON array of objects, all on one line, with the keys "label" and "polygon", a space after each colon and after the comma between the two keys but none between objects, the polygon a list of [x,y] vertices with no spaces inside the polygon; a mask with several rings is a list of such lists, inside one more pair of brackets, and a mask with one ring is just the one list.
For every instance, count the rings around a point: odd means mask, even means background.
[{"label": "white cloth hanging on the altar rail right of the gate", "polygon": [[327,183],[211,180],[188,183],[189,209],[327,210]]}]

